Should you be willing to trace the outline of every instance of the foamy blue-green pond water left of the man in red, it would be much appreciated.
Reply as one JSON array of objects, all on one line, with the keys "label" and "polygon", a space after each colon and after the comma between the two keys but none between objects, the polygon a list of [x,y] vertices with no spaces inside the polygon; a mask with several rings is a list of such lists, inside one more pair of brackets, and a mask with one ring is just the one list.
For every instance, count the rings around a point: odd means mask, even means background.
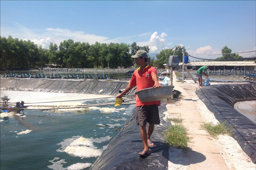
[{"label": "foamy blue-green pond water left of the man in red", "polygon": [[[45,102],[97,98],[102,95],[1,91],[10,102]],[[69,96],[70,95],[70,96]],[[40,97],[42,96],[42,97]],[[89,96],[89,97],[88,97]],[[114,102],[115,98],[81,101]],[[81,104],[80,103],[80,104]],[[55,103],[51,105],[59,105]],[[49,104],[49,105],[50,105]],[[79,102],[62,102],[75,106]],[[35,104],[39,105],[39,104]],[[45,105],[45,103],[44,103]],[[29,107],[31,108],[31,107]],[[1,113],[1,170],[89,169],[134,112],[135,105],[113,105],[55,111],[24,110]]]}]

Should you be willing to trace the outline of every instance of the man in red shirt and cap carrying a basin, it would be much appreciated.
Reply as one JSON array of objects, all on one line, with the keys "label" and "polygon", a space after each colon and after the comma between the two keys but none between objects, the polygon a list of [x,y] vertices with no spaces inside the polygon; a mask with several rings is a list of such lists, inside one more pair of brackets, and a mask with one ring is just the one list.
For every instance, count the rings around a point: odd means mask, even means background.
[{"label": "man in red shirt and cap carrying a basin", "polygon": [[[125,90],[117,95],[116,98],[121,98],[134,86],[137,86],[137,91],[145,88],[162,87],[158,82],[157,69],[147,64],[148,55],[146,51],[139,50],[132,56],[132,58],[135,59],[136,64],[139,65],[140,68],[134,71],[129,85],[127,85]],[[141,102],[138,96],[136,96],[136,123],[137,125],[140,125],[140,134],[144,145],[144,150],[139,154],[141,156],[150,155],[148,147],[154,147],[154,143],[151,142],[150,136],[153,133],[154,124],[160,124],[158,106],[160,106],[160,101]],[[147,122],[149,123],[148,133],[146,131]]]}]

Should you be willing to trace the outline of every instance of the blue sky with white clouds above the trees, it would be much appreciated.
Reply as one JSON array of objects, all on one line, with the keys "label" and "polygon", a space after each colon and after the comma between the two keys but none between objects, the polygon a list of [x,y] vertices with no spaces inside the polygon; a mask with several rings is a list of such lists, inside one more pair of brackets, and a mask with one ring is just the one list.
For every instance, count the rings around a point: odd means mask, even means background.
[{"label": "blue sky with white clouds above the trees", "polygon": [[[0,1],[0,35],[49,48],[64,40],[183,45],[194,57],[256,50],[256,1]],[[239,54],[251,57],[255,52]],[[197,60],[192,59],[190,60]]]}]

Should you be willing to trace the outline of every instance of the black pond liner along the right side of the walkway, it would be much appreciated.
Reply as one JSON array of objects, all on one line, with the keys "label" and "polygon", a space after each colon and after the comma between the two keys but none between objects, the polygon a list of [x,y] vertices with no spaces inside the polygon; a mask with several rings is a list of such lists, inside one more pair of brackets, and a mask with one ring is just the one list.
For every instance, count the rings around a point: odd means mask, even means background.
[{"label": "black pond liner along the right side of the walkway", "polygon": [[234,109],[236,102],[256,100],[256,83],[210,85],[197,95],[219,122],[233,126],[232,137],[256,164],[256,124]]}]

